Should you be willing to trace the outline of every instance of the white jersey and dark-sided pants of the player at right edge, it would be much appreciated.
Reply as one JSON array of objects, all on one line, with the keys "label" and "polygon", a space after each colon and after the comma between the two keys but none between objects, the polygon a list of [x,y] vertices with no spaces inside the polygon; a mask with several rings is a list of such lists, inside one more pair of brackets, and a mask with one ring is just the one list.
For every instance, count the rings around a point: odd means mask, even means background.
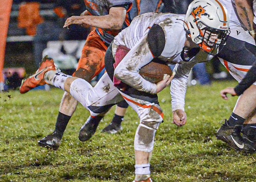
[{"label": "white jersey and dark-sided pants of the player at right edge", "polygon": [[[229,13],[230,35],[226,45],[220,47],[218,57],[228,72],[241,81],[256,62],[255,40],[239,21],[233,0],[219,0],[227,8]],[[254,4],[255,5],[255,4]],[[256,85],[256,82],[254,83]]]}]

